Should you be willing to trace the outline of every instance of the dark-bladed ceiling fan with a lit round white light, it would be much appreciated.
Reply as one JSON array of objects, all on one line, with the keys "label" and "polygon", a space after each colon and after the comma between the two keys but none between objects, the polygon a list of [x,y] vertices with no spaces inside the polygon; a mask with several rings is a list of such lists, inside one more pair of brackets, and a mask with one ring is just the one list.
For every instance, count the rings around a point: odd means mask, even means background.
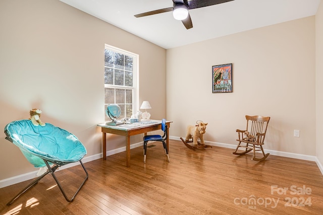
[{"label": "dark-bladed ceiling fan with a lit round white light", "polygon": [[218,5],[226,2],[231,2],[234,0],[173,0],[173,7],[171,8],[164,8],[159,9],[155,11],[149,11],[142,14],[137,14],[135,17],[145,17],[150,16],[154,14],[160,14],[165,12],[171,12],[173,11],[173,16],[176,20],[181,20],[186,29],[193,28],[192,20],[190,17],[190,14],[188,13],[188,10],[196,9],[196,8],[202,8],[212,5]]}]

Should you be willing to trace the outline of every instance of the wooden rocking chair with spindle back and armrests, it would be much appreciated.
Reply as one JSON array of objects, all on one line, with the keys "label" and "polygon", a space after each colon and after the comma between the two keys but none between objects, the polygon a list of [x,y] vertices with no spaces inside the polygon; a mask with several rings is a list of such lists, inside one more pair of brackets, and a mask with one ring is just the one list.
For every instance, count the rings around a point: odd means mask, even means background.
[{"label": "wooden rocking chair with spindle back and armrests", "polygon": [[[233,152],[232,154],[244,155],[253,150],[253,158],[251,160],[253,161],[265,160],[269,156],[269,153],[264,154],[262,145],[264,144],[263,141],[266,135],[267,126],[270,118],[271,117],[246,115],[247,128],[245,130],[239,130],[239,129],[236,130],[238,132],[237,141],[239,141],[239,144],[237,146],[236,151]],[[247,136],[244,137],[244,135],[246,134]],[[245,148],[245,150],[243,152],[237,152],[240,147]],[[263,157],[256,158],[256,151],[261,151]]]}]

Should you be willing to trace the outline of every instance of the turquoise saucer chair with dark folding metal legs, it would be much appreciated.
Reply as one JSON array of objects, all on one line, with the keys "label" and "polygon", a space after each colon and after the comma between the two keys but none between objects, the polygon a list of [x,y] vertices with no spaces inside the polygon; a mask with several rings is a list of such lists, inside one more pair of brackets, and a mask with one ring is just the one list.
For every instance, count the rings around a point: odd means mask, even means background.
[{"label": "turquoise saucer chair with dark folding metal legs", "polygon": [[[69,202],[74,200],[88,179],[88,173],[81,161],[86,155],[86,149],[75,135],[50,123],[45,123],[45,126],[35,126],[29,119],[9,123],[5,127],[5,133],[6,139],[19,147],[22,154],[34,167],[47,167],[48,169],[18,193],[7,205],[12,204],[49,173],[55,179],[65,199]],[[57,168],[73,162],[80,162],[86,176],[73,197],[68,198],[54,172]]]}]

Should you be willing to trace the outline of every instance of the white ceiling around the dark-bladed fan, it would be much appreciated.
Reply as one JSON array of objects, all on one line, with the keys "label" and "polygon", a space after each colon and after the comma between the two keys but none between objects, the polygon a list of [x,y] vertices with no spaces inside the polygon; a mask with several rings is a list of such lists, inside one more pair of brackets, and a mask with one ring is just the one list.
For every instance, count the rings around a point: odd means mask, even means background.
[{"label": "white ceiling around the dark-bladed fan", "polygon": [[[189,10],[187,30],[172,12],[134,15],[173,7],[172,0],[60,0],[163,48],[173,48],[316,14],[320,0],[235,0]],[[203,0],[201,0],[203,1]]]}]

